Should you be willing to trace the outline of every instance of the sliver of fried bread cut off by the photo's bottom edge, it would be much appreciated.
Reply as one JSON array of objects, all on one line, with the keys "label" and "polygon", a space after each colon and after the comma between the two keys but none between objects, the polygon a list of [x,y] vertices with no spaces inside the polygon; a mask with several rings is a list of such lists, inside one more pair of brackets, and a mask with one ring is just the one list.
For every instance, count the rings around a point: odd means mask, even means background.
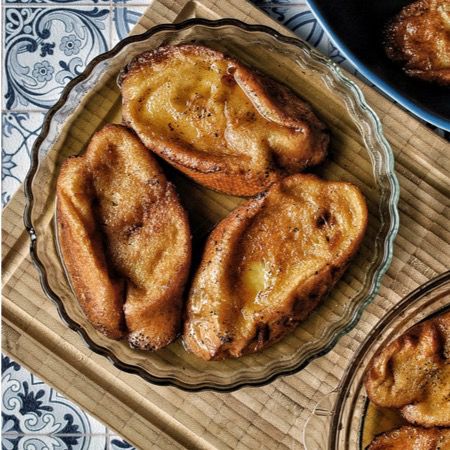
[{"label": "sliver of fried bread cut off by the photo's bottom edge", "polygon": [[450,430],[405,426],[377,436],[367,450],[450,450]]}]

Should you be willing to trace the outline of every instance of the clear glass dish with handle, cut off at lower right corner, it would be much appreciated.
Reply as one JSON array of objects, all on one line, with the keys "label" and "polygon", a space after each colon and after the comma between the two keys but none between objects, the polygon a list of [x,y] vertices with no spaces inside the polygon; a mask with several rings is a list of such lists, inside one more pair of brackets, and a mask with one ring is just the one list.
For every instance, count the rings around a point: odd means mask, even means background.
[{"label": "clear glass dish with handle, cut off at lower right corner", "polygon": [[363,450],[374,437],[366,427],[376,428],[366,421],[367,365],[379,349],[406,330],[448,310],[450,271],[420,286],[389,311],[361,344],[339,386],[314,408],[303,432],[306,450]]}]

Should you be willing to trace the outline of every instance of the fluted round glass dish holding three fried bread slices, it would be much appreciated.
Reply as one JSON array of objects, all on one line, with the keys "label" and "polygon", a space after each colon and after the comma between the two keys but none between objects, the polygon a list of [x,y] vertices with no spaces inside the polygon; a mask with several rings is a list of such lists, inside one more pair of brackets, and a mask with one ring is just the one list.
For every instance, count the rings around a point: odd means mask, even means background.
[{"label": "fluted round glass dish holding three fried bread slices", "polygon": [[[84,150],[92,134],[108,122],[120,122],[116,85],[120,69],[137,54],[163,44],[198,42],[225,51],[289,85],[310,102],[331,130],[331,150],[319,175],[350,181],[364,193],[369,225],[361,250],[322,305],[294,332],[267,350],[237,360],[204,362],[184,351],[179,340],[155,353],[133,350],[107,339],[87,322],[70,288],[58,254],[55,185],[62,161]],[[67,325],[95,352],[119,369],[182,389],[232,390],[261,385],[294,373],[329,351],[357,323],[376,295],[392,256],[398,229],[399,188],[391,149],[380,122],[360,89],[330,60],[308,44],[259,25],[233,19],[192,19],[159,25],[127,38],[95,58],[66,87],[48,113],[33,148],[25,191],[25,226],[42,286]],[[187,208],[193,234],[194,265],[214,225],[242,199],[204,189],[164,166]],[[194,266],[195,267],[195,266]]]}]

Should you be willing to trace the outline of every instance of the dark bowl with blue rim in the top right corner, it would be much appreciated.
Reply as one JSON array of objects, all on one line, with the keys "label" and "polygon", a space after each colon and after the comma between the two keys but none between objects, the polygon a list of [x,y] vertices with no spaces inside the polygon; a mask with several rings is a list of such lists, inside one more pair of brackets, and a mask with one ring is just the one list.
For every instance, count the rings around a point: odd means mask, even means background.
[{"label": "dark bowl with blue rim in the top right corner", "polygon": [[386,22],[412,0],[307,0],[339,50],[367,79],[416,116],[450,131],[450,88],[408,77],[385,55]]}]

